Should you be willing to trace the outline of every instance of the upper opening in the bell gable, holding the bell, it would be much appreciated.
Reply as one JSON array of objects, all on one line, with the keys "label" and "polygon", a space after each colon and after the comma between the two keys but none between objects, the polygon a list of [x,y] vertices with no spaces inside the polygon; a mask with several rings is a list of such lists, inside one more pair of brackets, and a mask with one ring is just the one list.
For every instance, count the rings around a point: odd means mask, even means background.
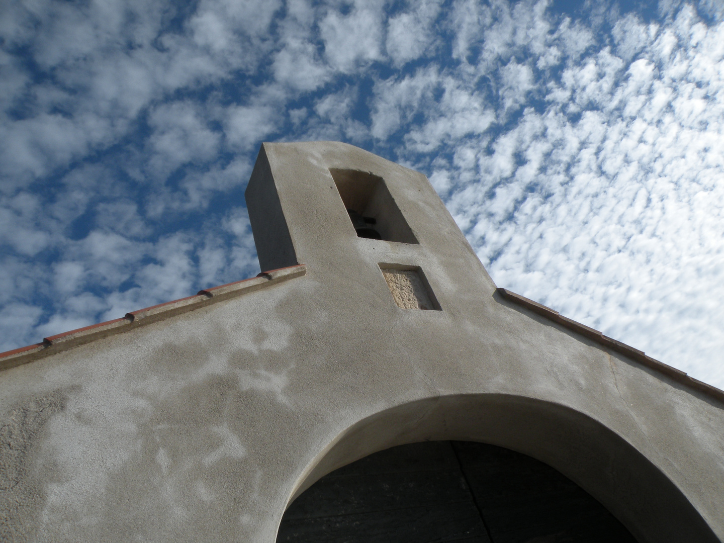
[{"label": "upper opening in the bell gable, holding the bell", "polygon": [[359,237],[418,243],[382,177],[356,169],[330,168],[329,173]]}]

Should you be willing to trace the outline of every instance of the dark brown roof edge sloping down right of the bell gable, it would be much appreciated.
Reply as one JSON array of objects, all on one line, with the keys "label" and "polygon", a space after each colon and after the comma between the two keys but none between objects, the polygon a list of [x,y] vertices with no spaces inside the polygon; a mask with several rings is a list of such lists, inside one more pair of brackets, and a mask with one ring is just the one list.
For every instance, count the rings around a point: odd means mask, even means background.
[{"label": "dark brown roof edge sloping down right of the bell gable", "polygon": [[502,297],[506,300],[510,300],[513,303],[517,303],[520,306],[528,308],[531,311],[534,311],[534,313],[538,313],[539,315],[544,316],[546,319],[554,321],[565,328],[573,330],[573,332],[577,332],[578,334],[588,337],[589,339],[594,340],[595,342],[598,342],[601,345],[610,348],[611,350],[615,350],[618,353],[626,355],[633,361],[640,362],[644,364],[644,366],[648,366],[649,368],[660,371],[662,374],[673,377],[678,382],[681,382],[688,385],[689,387],[695,388],[696,390],[700,390],[709,395],[712,395],[716,397],[717,400],[724,401],[724,390],[718,389],[712,384],[699,381],[699,379],[695,379],[689,374],[686,374],[685,371],[681,371],[680,369],[676,369],[673,366],[669,366],[667,363],[659,361],[656,358],[652,358],[651,356],[644,353],[644,351],[642,350],[633,348],[631,347],[631,345],[626,345],[626,343],[620,342],[618,340],[614,340],[613,338],[604,335],[602,332],[599,332],[596,329],[587,327],[585,324],[581,324],[578,321],[574,321],[573,319],[569,319],[568,317],[561,315],[560,313],[555,311],[555,309],[544,306],[542,303],[538,303],[534,300],[531,300],[530,298],[526,298],[525,296],[517,294],[511,290],[498,287],[497,292],[500,292],[500,295],[502,295]]}]

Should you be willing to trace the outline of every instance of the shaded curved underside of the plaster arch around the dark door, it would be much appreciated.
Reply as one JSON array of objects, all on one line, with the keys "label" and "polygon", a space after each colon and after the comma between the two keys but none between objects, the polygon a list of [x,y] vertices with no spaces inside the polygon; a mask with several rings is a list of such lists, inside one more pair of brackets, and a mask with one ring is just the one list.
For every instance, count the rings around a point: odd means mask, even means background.
[{"label": "shaded curved underside of the plaster arch around the dark door", "polygon": [[287,505],[322,476],[374,452],[446,440],[497,445],[546,463],[641,543],[719,542],[681,490],[626,439],[568,406],[514,395],[431,397],[363,418],[316,456]]}]

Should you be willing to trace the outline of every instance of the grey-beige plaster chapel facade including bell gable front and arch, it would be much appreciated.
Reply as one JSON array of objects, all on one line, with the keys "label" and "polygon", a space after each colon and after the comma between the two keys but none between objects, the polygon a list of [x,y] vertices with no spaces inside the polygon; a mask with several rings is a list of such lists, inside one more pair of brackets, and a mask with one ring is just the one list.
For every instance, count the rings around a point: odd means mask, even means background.
[{"label": "grey-beige plaster chapel facade including bell gable front and arch", "polygon": [[[424,439],[539,458],[642,542],[724,539],[719,400],[496,295],[423,175],[340,143],[259,160],[287,223],[261,258],[306,276],[1,372],[0,539],[272,543],[319,476]],[[419,245],[357,237],[330,167],[383,177]]]}]

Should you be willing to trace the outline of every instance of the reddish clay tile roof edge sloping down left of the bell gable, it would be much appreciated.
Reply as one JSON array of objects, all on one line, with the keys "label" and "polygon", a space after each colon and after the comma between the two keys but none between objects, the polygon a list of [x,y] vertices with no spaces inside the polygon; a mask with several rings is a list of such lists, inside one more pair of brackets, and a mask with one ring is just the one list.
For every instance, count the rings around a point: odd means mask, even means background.
[{"label": "reddish clay tile roof edge sloping down left of the bell gable", "polygon": [[301,277],[305,274],[306,266],[304,264],[262,271],[256,277],[227,283],[227,285],[219,285],[218,287],[209,287],[208,289],[200,290],[198,294],[193,296],[159,303],[156,306],[139,309],[138,311],[131,311],[120,319],[90,324],[90,326],[70,330],[70,332],[62,332],[61,334],[44,337],[41,343],[35,343],[0,353],[0,371],[21,366],[38,358],[45,358],[46,356],[60,353],[77,345],[99,340],[102,337],[127,332],[130,329],[168,319],[180,313],[186,313],[209,306],[212,303],[236,298],[248,292],[255,292],[266,286],[275,285],[287,279]]}]

